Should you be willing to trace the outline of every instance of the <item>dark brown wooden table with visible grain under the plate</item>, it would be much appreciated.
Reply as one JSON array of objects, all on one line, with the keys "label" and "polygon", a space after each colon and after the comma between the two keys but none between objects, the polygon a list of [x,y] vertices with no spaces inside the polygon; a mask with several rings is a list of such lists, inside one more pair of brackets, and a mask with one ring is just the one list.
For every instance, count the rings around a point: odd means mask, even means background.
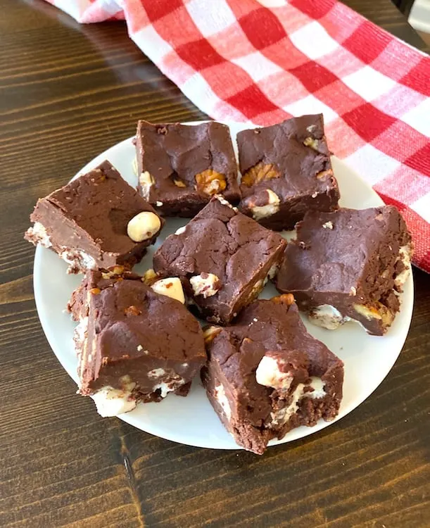
[{"label": "dark brown wooden table with visible grain under the plate", "polygon": [[[348,4],[426,49],[388,0]],[[430,277],[418,270],[409,337],[377,391],[263,457],[173,444],[75,396],[37,318],[28,214],[137,118],[205,115],[122,23],[80,26],[36,0],[0,9],[0,526],[430,527]]]}]

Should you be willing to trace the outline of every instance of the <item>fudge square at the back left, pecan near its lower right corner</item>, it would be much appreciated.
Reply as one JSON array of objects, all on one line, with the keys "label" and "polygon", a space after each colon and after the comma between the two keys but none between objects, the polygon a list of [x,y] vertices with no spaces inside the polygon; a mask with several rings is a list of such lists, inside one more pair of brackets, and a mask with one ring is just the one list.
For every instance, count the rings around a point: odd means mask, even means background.
[{"label": "fudge square at the back left, pecan near its lower right corner", "polygon": [[193,217],[214,194],[239,201],[232,139],[219,122],[139,121],[136,162],[140,194],[165,216]]}]

